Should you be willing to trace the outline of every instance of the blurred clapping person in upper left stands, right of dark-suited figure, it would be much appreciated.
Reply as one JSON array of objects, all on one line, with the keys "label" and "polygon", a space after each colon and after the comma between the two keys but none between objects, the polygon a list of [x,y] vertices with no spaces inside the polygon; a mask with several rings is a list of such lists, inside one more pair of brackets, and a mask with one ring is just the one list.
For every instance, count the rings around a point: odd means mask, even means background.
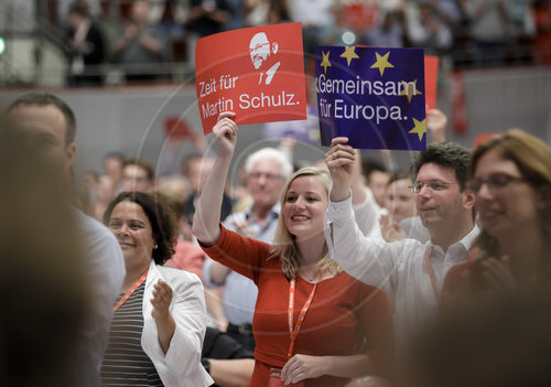
[{"label": "blurred clapping person in upper left stands, right of dark-suited figure", "polygon": [[166,36],[160,29],[149,24],[149,1],[133,0],[130,20],[114,46],[115,57],[122,64],[127,82],[161,77],[159,64],[166,60]]}]

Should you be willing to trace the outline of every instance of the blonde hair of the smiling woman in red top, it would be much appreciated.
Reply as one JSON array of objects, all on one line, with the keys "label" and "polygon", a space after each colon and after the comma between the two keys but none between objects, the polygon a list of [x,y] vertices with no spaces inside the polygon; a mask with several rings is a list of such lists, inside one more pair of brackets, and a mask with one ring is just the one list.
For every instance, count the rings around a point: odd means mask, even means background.
[{"label": "blonde hair of the smiling woman in red top", "polygon": [[[325,187],[325,193],[328,195],[333,181],[331,180],[327,170],[322,168],[306,166],[294,172],[285,182],[283,190],[281,191],[281,206],[285,203],[287,193],[291,183],[300,176],[315,176]],[[341,266],[328,256],[327,243],[324,241],[324,255],[323,258],[317,262],[320,268],[325,267],[326,270],[332,273],[339,273],[343,271]],[[287,278],[296,278],[299,275],[299,269],[301,267],[301,251],[299,246],[296,246],[296,240],[294,235],[289,233],[287,228],[285,221],[283,216],[279,217],[278,228],[276,229],[276,236],[273,239],[273,245],[271,247],[271,258],[279,257],[281,259],[281,269]]]}]

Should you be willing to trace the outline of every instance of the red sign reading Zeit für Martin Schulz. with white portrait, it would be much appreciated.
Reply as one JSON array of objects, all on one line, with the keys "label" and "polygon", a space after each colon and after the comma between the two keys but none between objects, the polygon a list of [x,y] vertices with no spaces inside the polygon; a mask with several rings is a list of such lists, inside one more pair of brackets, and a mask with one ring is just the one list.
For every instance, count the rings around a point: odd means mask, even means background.
[{"label": "red sign reading Zeit f\u00fcr Martin Schulz. with white portrait", "polygon": [[239,125],[306,118],[300,23],[234,30],[195,46],[195,88],[203,131],[222,111]]}]

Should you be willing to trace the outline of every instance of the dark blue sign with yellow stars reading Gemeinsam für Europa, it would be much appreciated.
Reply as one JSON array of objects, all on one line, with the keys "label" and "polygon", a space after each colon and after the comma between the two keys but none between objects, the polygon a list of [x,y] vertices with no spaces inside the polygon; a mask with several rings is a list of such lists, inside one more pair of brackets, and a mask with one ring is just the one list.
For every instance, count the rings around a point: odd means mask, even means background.
[{"label": "dark blue sign with yellow stars reading Gemeinsam f\u00fcr Europa", "polygon": [[323,146],[345,136],[359,149],[426,149],[422,50],[318,46],[315,54]]}]

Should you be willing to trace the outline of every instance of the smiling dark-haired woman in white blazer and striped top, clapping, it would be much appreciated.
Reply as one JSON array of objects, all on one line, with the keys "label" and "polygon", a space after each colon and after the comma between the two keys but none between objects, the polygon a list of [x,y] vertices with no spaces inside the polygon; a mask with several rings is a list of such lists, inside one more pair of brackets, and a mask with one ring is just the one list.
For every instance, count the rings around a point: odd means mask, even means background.
[{"label": "smiling dark-haired woman in white blazer and striped top, clapping", "polygon": [[201,364],[206,330],[197,276],[163,267],[174,254],[176,221],[159,197],[119,194],[104,215],[127,275],[101,367],[104,386],[210,386]]}]

